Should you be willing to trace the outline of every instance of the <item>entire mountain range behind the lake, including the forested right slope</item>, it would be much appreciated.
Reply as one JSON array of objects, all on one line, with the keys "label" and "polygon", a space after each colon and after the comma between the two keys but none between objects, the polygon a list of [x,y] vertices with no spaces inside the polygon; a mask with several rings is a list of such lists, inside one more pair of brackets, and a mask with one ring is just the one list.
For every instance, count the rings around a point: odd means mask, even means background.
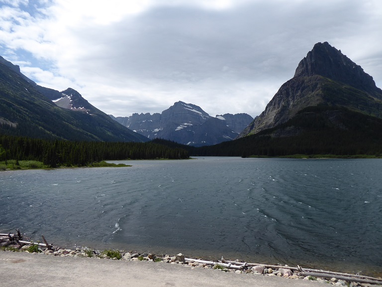
[{"label": "entire mountain range behind the lake, including the forested right slope", "polygon": [[211,117],[184,102],[161,114],[115,118],[73,89],[36,85],[0,57],[0,128],[2,134],[73,141],[161,138],[188,144],[193,155],[382,156],[382,90],[341,50],[324,42],[314,45],[255,119]]}]

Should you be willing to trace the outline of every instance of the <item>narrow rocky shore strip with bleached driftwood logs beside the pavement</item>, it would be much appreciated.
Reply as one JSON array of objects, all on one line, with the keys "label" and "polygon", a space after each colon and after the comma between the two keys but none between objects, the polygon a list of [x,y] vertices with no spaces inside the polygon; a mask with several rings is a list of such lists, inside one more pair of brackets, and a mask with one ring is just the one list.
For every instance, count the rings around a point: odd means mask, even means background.
[{"label": "narrow rocky shore strip with bleached driftwood logs beside the pavement", "polygon": [[[12,241],[16,237],[16,240]],[[45,240],[45,239],[44,239]],[[205,261],[201,259],[186,258],[183,254],[177,255],[154,255],[151,253],[140,254],[130,251],[123,252],[119,250],[94,250],[86,247],[77,247],[75,249],[66,249],[43,244],[40,242],[17,240],[16,235],[0,235],[0,246],[3,251],[26,252],[39,255],[50,255],[57,257],[82,257],[103,260],[127,260],[127,261],[148,261],[167,264],[178,264],[191,269],[213,269],[217,272],[229,272],[236,274],[253,274],[262,276],[277,276],[289,280],[308,280],[316,281],[333,286],[347,287],[373,287],[382,285],[382,278],[372,278],[360,275],[342,274],[336,272],[302,269],[301,267],[276,266],[266,264],[251,264],[246,262],[221,260]]]}]

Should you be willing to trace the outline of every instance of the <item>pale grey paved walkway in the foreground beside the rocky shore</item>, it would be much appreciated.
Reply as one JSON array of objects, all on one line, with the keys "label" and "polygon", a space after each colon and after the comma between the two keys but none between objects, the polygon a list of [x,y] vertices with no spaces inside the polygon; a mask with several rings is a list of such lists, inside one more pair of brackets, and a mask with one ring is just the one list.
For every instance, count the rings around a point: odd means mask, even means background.
[{"label": "pale grey paved walkway in the foreground beside the rocky shore", "polygon": [[319,287],[321,283],[178,264],[0,251],[0,286]]}]

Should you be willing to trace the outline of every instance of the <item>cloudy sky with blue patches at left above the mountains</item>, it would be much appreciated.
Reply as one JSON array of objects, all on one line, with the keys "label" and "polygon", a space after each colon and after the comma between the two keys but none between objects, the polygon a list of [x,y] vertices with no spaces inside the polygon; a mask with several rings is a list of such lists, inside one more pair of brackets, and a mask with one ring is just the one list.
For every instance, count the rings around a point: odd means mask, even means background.
[{"label": "cloudy sky with blue patches at left above the mountains", "polygon": [[328,41],[382,88],[381,0],[0,0],[0,55],[114,116],[259,115]]}]

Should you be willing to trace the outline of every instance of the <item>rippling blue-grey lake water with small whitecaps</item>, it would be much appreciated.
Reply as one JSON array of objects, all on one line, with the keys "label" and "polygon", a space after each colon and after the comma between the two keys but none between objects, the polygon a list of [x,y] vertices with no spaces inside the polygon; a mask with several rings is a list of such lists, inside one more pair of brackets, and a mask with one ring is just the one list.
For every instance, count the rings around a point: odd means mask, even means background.
[{"label": "rippling blue-grey lake water with small whitecaps", "polygon": [[198,157],[0,172],[0,233],[382,273],[382,160]]}]

